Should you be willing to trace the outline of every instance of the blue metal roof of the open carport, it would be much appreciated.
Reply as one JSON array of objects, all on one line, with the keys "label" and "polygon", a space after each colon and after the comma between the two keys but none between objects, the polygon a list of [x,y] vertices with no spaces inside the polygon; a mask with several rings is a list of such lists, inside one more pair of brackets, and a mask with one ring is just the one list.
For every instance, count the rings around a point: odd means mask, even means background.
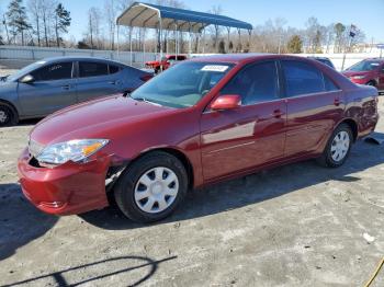
[{"label": "blue metal roof of the open carport", "polygon": [[252,30],[252,25],[233,18],[204,12],[135,2],[116,20],[117,25],[177,30],[181,32],[201,33],[208,25]]}]

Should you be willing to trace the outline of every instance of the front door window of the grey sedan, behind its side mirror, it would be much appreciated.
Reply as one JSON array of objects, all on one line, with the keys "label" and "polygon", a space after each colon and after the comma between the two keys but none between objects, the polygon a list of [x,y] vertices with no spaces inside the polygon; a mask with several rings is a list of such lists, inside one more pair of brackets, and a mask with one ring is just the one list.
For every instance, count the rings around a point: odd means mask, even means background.
[{"label": "front door window of the grey sedan, behind its side mirror", "polygon": [[31,72],[31,76],[35,81],[55,81],[55,80],[65,80],[72,77],[72,62],[57,62],[43,67],[34,72]]}]

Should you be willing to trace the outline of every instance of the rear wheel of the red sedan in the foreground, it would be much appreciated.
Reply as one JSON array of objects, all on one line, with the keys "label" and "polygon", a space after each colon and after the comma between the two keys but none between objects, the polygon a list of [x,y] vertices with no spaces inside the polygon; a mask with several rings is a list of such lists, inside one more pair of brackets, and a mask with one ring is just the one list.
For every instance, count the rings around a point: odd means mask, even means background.
[{"label": "rear wheel of the red sedan in the foreground", "polygon": [[326,168],[341,167],[349,157],[352,144],[353,135],[350,126],[340,124],[330,136],[321,157],[317,159],[318,163]]}]

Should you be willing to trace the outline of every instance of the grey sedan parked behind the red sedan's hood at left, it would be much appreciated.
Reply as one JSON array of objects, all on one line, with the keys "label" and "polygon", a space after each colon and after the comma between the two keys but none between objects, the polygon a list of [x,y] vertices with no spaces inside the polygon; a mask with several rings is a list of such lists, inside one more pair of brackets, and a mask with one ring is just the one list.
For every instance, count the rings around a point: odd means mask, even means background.
[{"label": "grey sedan parked behind the red sedan's hood at left", "polygon": [[0,81],[0,126],[38,118],[63,107],[133,91],[151,74],[92,57],[57,57],[31,64]]}]

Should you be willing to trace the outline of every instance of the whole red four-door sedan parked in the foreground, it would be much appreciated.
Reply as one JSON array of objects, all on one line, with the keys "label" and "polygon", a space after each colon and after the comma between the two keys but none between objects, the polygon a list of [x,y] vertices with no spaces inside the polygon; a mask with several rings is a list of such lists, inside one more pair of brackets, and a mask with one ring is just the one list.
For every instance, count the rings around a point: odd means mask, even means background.
[{"label": "whole red four-door sedan parked in the foreground", "polygon": [[377,119],[377,90],[320,62],[213,56],[45,118],[18,169],[43,211],[100,209],[113,193],[128,218],[150,222],[189,188],[310,158],[340,167]]}]

